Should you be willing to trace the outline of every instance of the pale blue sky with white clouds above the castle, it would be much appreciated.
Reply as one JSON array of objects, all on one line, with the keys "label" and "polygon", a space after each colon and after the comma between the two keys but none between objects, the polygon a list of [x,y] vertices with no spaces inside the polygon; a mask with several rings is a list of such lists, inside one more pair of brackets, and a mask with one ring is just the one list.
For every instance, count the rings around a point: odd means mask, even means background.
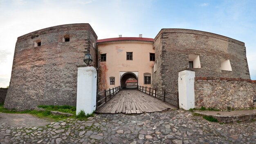
[{"label": "pale blue sky with white clouds above the castle", "polygon": [[155,38],[163,28],[224,35],[245,42],[256,80],[256,0],[0,0],[0,87],[9,86],[19,36],[72,23],[89,23],[98,39]]}]

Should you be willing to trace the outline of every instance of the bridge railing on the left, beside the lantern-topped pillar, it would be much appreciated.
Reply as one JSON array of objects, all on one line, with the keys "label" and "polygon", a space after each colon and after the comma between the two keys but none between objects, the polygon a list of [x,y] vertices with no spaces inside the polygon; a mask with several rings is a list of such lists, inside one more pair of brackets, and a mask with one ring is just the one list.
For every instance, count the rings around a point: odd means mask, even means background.
[{"label": "bridge railing on the left, beside the lantern-topped pillar", "polygon": [[121,86],[117,86],[115,88],[104,90],[102,92],[97,93],[96,109],[98,109],[100,106],[108,102],[113,96],[115,96],[119,91],[121,91],[121,89]]}]

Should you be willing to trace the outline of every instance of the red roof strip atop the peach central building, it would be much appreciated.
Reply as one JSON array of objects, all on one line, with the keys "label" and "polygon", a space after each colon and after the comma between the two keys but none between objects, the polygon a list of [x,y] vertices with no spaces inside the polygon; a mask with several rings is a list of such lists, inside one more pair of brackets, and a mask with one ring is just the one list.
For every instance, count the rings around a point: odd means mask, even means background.
[{"label": "red roof strip atop the peach central building", "polygon": [[146,42],[153,42],[154,39],[153,38],[139,38],[139,37],[122,37],[122,38],[106,38],[106,39],[101,39],[98,40],[97,42],[113,42],[113,41],[128,41],[128,40],[132,40],[132,41],[146,41]]}]

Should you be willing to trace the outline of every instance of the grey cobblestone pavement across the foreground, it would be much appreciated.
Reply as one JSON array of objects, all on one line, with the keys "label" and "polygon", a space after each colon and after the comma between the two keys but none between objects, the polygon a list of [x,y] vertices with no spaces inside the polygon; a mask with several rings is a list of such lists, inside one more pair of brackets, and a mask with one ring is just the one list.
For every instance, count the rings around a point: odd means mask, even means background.
[{"label": "grey cobblestone pavement across the foreground", "polygon": [[219,124],[177,110],[141,115],[101,114],[41,127],[0,123],[1,144],[255,144],[256,122]]}]

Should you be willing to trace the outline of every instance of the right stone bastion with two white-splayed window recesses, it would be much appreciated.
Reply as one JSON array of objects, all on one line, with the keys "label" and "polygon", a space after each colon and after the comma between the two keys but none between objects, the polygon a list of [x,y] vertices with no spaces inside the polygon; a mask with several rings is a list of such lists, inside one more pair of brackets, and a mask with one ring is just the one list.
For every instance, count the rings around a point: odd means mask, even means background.
[{"label": "right stone bastion with two white-splayed window recesses", "polygon": [[[162,29],[154,41],[157,71],[152,86],[177,93],[178,71],[189,68],[189,54],[199,55],[196,77],[250,79],[245,44],[222,35],[189,29]],[[232,71],[221,70],[220,59],[230,60]]]}]

